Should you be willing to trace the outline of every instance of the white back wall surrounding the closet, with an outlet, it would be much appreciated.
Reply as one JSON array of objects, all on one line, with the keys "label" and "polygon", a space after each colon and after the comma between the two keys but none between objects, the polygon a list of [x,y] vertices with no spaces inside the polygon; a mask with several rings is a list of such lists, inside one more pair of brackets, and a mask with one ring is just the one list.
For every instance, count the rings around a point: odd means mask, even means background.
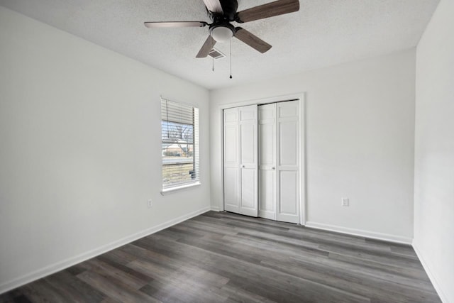
[{"label": "white back wall surrounding the closet, with an outlet", "polygon": [[414,82],[405,50],[211,91],[211,205],[222,203],[221,104],[306,92],[307,225],[411,243]]}]

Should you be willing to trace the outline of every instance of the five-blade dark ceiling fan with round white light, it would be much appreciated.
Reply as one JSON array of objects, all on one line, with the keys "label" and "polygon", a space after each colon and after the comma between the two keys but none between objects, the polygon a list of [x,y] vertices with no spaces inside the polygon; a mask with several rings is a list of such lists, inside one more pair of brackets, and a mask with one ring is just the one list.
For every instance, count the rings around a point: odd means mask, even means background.
[{"label": "five-blade dark ceiling fan with round white light", "polygon": [[258,38],[244,28],[235,27],[231,22],[245,23],[273,16],[283,15],[299,11],[299,0],[277,0],[268,4],[255,6],[245,11],[238,11],[237,0],[203,0],[211,21],[175,21],[175,22],[145,22],[148,28],[181,28],[181,27],[205,27],[209,26],[210,35],[202,45],[196,57],[206,57],[216,42],[226,42],[232,37],[243,41],[251,48],[265,53],[271,45]]}]

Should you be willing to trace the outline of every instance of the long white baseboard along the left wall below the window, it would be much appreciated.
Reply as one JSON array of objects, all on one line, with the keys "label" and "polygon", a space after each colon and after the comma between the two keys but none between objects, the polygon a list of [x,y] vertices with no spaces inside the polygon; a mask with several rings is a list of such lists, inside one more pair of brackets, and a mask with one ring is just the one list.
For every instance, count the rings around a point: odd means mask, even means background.
[{"label": "long white baseboard along the left wall below the window", "polygon": [[175,224],[179,224],[182,221],[186,221],[187,219],[193,218],[194,216],[199,216],[199,214],[204,214],[206,211],[209,211],[209,210],[210,210],[210,207],[204,207],[203,209],[192,211],[189,214],[179,216],[178,218],[164,222],[157,226],[153,226],[153,227],[147,228],[143,231],[139,231],[138,233],[134,233],[131,236],[127,236],[125,238],[121,238],[117,241],[111,242],[111,243],[101,246],[99,248],[89,250],[86,253],[75,255],[74,257],[67,258],[66,260],[62,260],[60,262],[48,265],[45,268],[40,268],[39,270],[35,270],[34,272],[30,272],[21,277],[17,277],[16,279],[13,279],[11,281],[4,282],[3,284],[0,285],[0,294],[3,294],[4,292],[8,292],[9,290],[13,290],[16,287],[26,285],[27,283],[38,280],[42,277],[52,275],[52,273],[58,272],[60,270],[64,270],[65,268],[69,268],[72,265],[84,262],[85,260],[94,258],[97,255],[101,255],[103,253],[108,252],[109,250],[113,250],[114,248],[118,248],[125,244],[131,243],[135,240],[148,236],[152,233],[156,233],[157,231],[162,231],[162,229],[168,228]]}]

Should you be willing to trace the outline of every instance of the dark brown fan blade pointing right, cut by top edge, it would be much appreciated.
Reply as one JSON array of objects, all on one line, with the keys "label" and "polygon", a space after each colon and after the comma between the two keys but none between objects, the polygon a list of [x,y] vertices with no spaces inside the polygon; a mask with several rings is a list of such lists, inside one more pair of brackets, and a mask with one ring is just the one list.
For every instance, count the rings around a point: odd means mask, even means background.
[{"label": "dark brown fan blade pointing right, cut by top edge", "polygon": [[298,0],[278,0],[240,11],[237,14],[236,21],[239,23],[250,22],[283,15],[284,13],[293,13],[294,11],[299,11]]}]

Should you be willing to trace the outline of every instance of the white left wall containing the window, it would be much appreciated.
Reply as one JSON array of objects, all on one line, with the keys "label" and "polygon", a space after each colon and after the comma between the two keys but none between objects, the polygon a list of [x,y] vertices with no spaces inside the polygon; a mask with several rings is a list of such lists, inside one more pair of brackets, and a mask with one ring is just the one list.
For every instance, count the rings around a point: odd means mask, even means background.
[{"label": "white left wall containing the window", "polygon": [[[206,89],[1,6],[0,41],[0,292],[209,209]],[[202,185],[165,197],[160,94],[201,117]]]}]

